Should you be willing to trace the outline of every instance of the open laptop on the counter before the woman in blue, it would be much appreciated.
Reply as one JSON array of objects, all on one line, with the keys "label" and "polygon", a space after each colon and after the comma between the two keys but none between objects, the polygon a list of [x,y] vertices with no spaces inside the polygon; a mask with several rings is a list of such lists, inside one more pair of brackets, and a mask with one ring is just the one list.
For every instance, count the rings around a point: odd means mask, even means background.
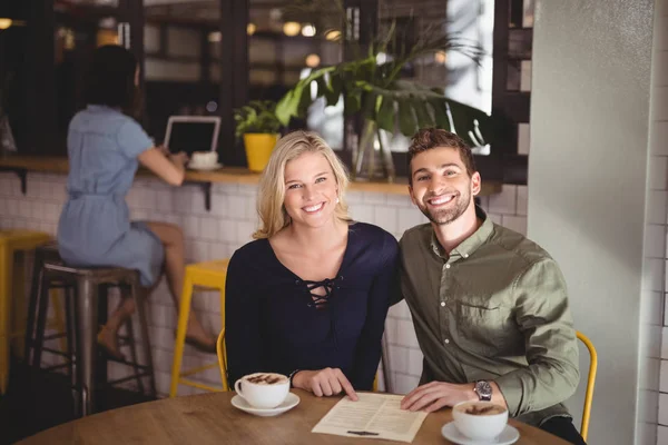
[{"label": "open laptop on the counter before the woman in blue", "polygon": [[218,116],[171,116],[167,121],[165,146],[170,152],[216,151],[218,148]]}]

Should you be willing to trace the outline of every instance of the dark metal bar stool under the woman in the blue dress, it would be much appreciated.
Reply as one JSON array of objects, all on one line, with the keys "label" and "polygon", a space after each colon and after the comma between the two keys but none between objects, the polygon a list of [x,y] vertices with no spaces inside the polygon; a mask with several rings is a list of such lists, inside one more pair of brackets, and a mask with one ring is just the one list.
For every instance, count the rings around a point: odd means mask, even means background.
[{"label": "dark metal bar stool under the woman in the blue dress", "polygon": [[[48,293],[51,286],[66,287],[70,300],[68,320],[68,344],[70,349],[70,363],[73,363],[72,386],[75,389],[75,406],[77,414],[86,416],[95,413],[95,375],[104,376],[105,385],[115,385],[130,379],[137,379],[139,389],[144,389],[140,383],[143,377],[148,377],[150,383],[150,394],[156,396],[156,384],[153,367],[153,357],[148,335],[148,323],[144,304],[145,298],[140,298],[139,274],[136,270],[120,267],[110,268],[82,268],[69,267],[62,263],[45,261],[41,270],[41,284],[39,285],[40,295],[37,297],[38,314],[35,339],[27,343],[32,345],[32,366],[39,367],[41,364],[41,353],[43,348],[43,332],[46,325],[46,313],[48,310]],[[130,342],[132,362],[121,360],[110,357],[117,363],[131,366],[134,375],[107,382],[106,360],[98,362],[97,335],[100,314],[106,318],[107,294],[109,287],[118,286],[124,297],[135,298],[137,301],[137,313],[139,315],[139,325],[141,328],[143,349],[146,354],[146,364],[140,365],[137,359],[137,352],[134,345],[131,326],[128,325],[128,335],[126,340]],[[98,313],[98,309],[102,309]],[[131,325],[131,323],[130,323]],[[28,355],[27,355],[28,356]],[[96,373],[97,370],[97,373]],[[102,380],[99,378],[99,380]],[[100,382],[101,383],[101,382]]]}]

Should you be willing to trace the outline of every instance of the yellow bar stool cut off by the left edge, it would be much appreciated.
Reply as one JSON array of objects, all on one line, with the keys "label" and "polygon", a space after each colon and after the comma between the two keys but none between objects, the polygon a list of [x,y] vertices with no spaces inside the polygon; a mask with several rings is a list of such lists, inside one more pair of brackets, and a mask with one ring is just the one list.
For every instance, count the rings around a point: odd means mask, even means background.
[{"label": "yellow bar stool cut off by the left edge", "polygon": [[[35,230],[0,230],[0,394],[4,394],[9,384],[9,342],[11,337],[22,338],[26,330],[26,317],[22,314],[24,305],[17,304],[17,333],[11,333],[10,313],[12,309],[12,290],[23,296],[23,270],[14,270],[13,257],[17,251],[32,250],[37,246],[51,240],[48,234]],[[12,283],[16,277],[16,283]],[[20,348],[19,350],[23,350]]]}]

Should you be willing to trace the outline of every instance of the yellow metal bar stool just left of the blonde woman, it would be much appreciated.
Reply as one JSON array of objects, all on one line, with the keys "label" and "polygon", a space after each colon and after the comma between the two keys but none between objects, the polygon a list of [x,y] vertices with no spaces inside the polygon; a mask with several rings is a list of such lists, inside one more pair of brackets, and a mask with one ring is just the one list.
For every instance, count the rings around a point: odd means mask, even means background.
[{"label": "yellow metal bar stool just left of the blonde woman", "polygon": [[185,377],[202,373],[218,366],[218,363],[200,366],[194,369],[181,370],[184,358],[184,346],[186,344],[186,328],[190,316],[190,303],[193,300],[193,289],[195,286],[209,289],[218,289],[220,293],[220,323],[225,329],[225,279],[227,278],[228,259],[214,261],[196,263],[186,266],[186,276],[184,279],[184,290],[181,294],[180,308],[178,310],[178,327],[176,329],[176,344],[174,345],[174,363],[171,365],[171,386],[169,397],[176,396],[178,385],[193,386],[199,389],[219,392],[227,390],[226,387],[216,387],[199,382],[194,382]]}]

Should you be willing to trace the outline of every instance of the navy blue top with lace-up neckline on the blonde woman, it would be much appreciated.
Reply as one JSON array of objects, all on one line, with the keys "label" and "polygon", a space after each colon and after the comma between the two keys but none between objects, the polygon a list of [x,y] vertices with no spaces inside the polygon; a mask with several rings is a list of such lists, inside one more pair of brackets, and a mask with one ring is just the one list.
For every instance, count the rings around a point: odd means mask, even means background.
[{"label": "navy blue top with lace-up neckline on the blonde woman", "polygon": [[267,239],[229,260],[225,343],[229,382],[246,374],[337,367],[356,389],[372,389],[381,338],[396,286],[396,239],[364,222],[350,226],[338,274],[324,307],[310,285],[285,267]]}]

